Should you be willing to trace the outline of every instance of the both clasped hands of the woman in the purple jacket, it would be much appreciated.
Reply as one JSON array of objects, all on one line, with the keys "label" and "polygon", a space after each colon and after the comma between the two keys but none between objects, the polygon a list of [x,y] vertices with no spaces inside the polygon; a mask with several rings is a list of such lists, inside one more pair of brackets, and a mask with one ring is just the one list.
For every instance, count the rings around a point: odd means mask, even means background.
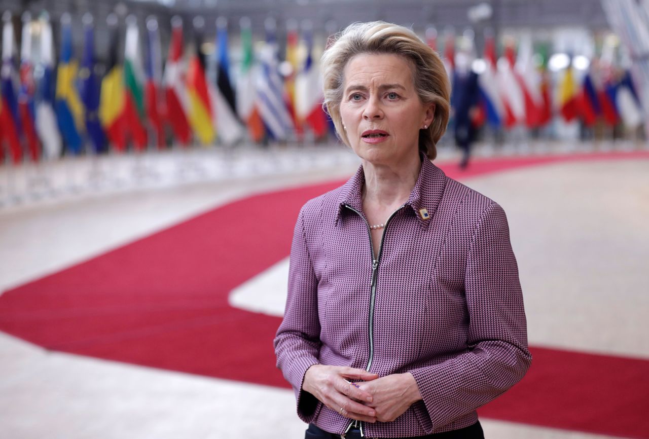
[{"label": "both clasped hands of the woman in the purple jacket", "polygon": [[421,399],[410,373],[379,377],[363,369],[324,364],[308,368],[302,390],[345,418],[372,423],[393,421]]}]

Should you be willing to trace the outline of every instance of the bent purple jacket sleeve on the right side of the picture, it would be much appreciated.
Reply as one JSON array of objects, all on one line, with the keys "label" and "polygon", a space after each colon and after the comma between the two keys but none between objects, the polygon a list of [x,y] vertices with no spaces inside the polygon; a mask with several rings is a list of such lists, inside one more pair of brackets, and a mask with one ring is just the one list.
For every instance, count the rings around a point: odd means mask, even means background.
[{"label": "bent purple jacket sleeve on the right side of the picture", "polygon": [[467,350],[434,366],[410,370],[432,431],[504,393],[522,379],[532,362],[507,218],[495,202],[485,209],[472,236],[465,294]]}]

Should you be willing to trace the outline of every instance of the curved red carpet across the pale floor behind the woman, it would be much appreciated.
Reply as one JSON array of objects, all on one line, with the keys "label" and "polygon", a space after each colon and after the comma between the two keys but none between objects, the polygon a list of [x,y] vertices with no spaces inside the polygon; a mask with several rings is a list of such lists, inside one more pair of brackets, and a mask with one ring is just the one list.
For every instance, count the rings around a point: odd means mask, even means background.
[{"label": "curved red carpet across the pale floor behind the woman", "polygon": [[[453,178],[647,152],[474,161]],[[0,329],[49,350],[288,386],[275,368],[280,318],[228,305],[228,293],[289,254],[297,212],[341,182],[249,196],[0,296]],[[263,222],[263,230],[259,224]],[[524,379],[480,415],[649,438],[649,361],[533,346]]]}]

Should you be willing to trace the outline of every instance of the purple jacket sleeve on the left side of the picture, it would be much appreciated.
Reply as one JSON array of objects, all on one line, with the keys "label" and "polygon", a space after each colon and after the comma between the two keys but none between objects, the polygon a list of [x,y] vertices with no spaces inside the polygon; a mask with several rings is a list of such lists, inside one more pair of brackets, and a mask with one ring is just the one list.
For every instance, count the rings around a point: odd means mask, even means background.
[{"label": "purple jacket sleeve on the left side of the picture", "polygon": [[315,418],[318,401],[312,394],[301,390],[302,381],[306,370],[318,363],[320,347],[317,278],[306,243],[302,208],[293,231],[288,296],[284,320],[275,336],[275,354],[277,367],[295,391],[297,414],[307,423]]}]

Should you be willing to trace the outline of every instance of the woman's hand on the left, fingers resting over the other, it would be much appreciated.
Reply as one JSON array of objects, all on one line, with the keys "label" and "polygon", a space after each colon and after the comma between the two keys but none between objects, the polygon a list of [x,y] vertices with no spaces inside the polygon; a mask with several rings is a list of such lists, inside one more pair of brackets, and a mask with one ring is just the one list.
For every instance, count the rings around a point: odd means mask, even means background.
[{"label": "woman's hand on the left, fingers resting over the other", "polygon": [[302,390],[345,418],[376,422],[376,410],[364,405],[373,402],[372,395],[358,385],[350,384],[346,378],[371,381],[377,379],[378,375],[363,369],[313,364],[304,374]]}]

